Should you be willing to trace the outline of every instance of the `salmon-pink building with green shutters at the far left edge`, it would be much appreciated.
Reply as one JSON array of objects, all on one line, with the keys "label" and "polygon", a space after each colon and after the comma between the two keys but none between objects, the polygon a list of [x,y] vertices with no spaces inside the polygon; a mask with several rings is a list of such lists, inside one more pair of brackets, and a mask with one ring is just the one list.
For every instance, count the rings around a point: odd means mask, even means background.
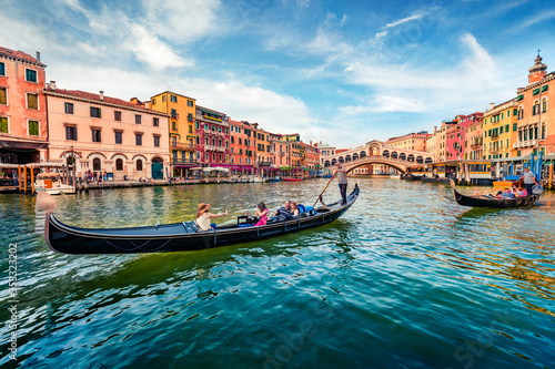
[{"label": "salmon-pink building with green shutters at the far left edge", "polygon": [[39,52],[0,48],[0,163],[48,161],[46,66]]}]

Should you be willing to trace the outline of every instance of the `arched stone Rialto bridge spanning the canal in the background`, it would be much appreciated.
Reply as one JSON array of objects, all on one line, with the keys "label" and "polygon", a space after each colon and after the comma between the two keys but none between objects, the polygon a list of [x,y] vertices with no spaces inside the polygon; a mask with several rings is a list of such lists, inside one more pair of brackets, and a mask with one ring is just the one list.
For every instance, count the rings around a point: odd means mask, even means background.
[{"label": "arched stone Rialto bridge spanning the canal in the background", "polygon": [[430,153],[385,146],[380,141],[371,141],[365,145],[322,157],[322,166],[326,168],[337,163],[342,163],[347,172],[351,172],[363,165],[373,165],[373,167],[380,165],[383,167],[393,167],[401,173],[406,173],[410,167],[432,164],[433,161],[434,157]]}]

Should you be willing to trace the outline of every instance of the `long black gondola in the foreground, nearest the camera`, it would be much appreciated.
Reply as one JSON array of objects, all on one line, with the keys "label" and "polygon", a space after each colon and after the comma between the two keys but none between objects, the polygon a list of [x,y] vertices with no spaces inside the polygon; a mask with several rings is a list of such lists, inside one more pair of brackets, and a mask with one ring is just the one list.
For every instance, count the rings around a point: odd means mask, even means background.
[{"label": "long black gondola in the foreground, nearest the camera", "polygon": [[47,212],[44,239],[51,250],[62,254],[138,254],[220,247],[329,224],[353,205],[359,192],[355,185],[345,205],[336,202],[285,222],[269,222],[265,226],[224,225],[206,232],[199,232],[195,222],[130,228],[79,228],[56,218],[56,202],[51,198],[38,199],[37,203],[38,208]]}]

